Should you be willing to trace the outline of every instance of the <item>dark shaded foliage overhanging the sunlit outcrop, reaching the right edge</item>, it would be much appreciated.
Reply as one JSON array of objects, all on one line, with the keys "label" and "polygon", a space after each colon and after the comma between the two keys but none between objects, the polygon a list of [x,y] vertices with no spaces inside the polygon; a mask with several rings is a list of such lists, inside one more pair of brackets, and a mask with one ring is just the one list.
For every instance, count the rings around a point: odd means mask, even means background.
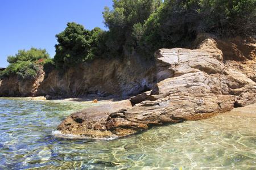
[{"label": "dark shaded foliage overhanging the sunlit outcrop, reaching the right edge", "polygon": [[143,25],[137,51],[185,47],[197,33],[220,37],[256,34],[255,0],[168,0]]}]

